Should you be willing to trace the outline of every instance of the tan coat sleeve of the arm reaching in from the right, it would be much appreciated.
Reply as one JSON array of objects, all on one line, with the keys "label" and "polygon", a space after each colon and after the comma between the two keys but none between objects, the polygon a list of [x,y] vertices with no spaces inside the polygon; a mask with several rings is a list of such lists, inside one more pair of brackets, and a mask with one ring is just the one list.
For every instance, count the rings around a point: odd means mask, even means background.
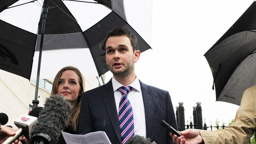
[{"label": "tan coat sleeve of the arm reaching in from the right", "polygon": [[205,144],[247,144],[256,129],[256,86],[244,91],[235,121],[224,130],[199,130]]}]

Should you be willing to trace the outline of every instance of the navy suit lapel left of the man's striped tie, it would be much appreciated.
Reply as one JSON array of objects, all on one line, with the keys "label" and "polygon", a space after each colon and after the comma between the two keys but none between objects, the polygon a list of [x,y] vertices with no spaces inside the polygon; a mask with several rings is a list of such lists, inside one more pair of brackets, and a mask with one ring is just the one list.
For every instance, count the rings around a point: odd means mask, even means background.
[{"label": "navy suit lapel left of the man's striped tie", "polygon": [[101,92],[102,99],[104,100],[104,103],[108,112],[108,116],[115,129],[116,135],[121,143],[121,132],[119,128],[120,124],[118,121],[118,114],[116,111],[116,103],[115,103],[112,79],[110,79],[110,81],[104,86],[105,86],[105,90]]}]

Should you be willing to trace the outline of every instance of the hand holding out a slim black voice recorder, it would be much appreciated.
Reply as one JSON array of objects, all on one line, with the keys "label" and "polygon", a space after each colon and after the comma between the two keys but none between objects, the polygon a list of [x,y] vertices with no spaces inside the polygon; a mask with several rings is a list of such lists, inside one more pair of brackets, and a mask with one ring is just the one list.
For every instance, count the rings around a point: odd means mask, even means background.
[{"label": "hand holding out a slim black voice recorder", "polygon": [[177,144],[200,144],[203,139],[197,129],[187,129],[180,132],[181,136],[170,133],[173,143]]}]

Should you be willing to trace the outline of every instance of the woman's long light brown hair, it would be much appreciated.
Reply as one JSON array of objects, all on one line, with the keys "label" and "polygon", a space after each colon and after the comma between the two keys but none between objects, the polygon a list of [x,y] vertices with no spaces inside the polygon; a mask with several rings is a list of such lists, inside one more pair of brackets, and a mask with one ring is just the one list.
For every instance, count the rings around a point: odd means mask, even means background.
[{"label": "woman's long light brown hair", "polygon": [[78,116],[79,116],[79,113],[80,113],[80,106],[81,106],[81,96],[84,92],[84,77],[81,74],[81,72],[77,68],[71,67],[71,66],[64,67],[64,68],[60,69],[60,71],[57,73],[57,75],[55,76],[55,78],[53,80],[52,93],[51,94],[52,95],[57,94],[57,88],[58,88],[58,83],[59,83],[59,80],[60,80],[60,76],[66,70],[72,70],[77,74],[78,82],[79,82],[79,85],[80,85],[80,90],[79,90],[79,94],[78,94],[78,97],[77,97],[76,106],[71,110],[71,114],[68,118],[68,124],[73,127],[75,132],[77,132]]}]

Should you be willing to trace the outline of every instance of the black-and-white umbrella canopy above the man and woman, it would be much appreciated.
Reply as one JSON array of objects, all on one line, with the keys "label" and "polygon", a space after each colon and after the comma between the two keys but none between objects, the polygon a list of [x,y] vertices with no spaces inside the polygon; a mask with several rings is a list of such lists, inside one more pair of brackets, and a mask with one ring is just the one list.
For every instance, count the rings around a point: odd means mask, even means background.
[{"label": "black-and-white umbrella canopy above the man and woman", "polygon": [[[42,3],[34,1],[12,7],[27,2],[17,1],[0,2],[0,69],[27,79],[36,79],[42,30]],[[144,34],[139,34],[128,23],[129,15],[130,21],[132,21],[131,15],[143,17],[137,10],[129,11],[129,6],[132,3],[136,4],[135,1],[97,0],[83,3],[66,0],[64,2],[62,0],[48,2],[40,79],[53,78],[59,69],[68,65],[79,68],[84,76],[101,76],[107,72],[105,50],[102,46],[107,32],[113,28],[122,27],[133,31],[139,39],[140,51],[150,49],[140,35],[151,35],[151,9],[148,14],[150,20],[146,20],[150,23],[150,27],[142,21],[144,27],[150,29],[144,30],[147,31]],[[12,8],[6,9],[8,6]],[[24,14],[19,15],[22,12]],[[129,12],[133,14],[128,14]],[[82,17],[79,18],[82,25],[78,25],[80,22],[76,20],[76,16]],[[31,24],[28,25],[29,22]],[[25,24],[20,25],[22,23]],[[86,26],[83,25],[84,23]],[[150,39],[147,41],[150,43]]]}]

